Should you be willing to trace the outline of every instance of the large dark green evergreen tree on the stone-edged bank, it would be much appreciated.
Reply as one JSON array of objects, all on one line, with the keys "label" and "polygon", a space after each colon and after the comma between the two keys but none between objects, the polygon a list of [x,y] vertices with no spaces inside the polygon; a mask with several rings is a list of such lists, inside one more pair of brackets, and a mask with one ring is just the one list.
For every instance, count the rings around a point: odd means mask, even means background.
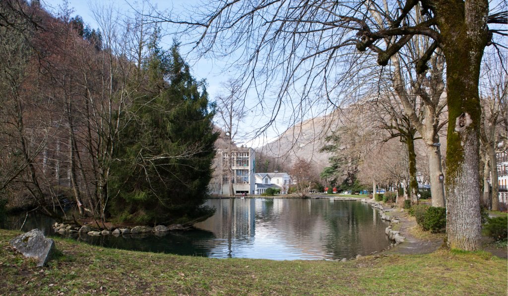
[{"label": "large dark green evergreen tree on the stone-edged bank", "polygon": [[147,90],[124,112],[126,128],[112,165],[110,212],[119,220],[183,223],[209,217],[213,111],[204,81],[196,81],[178,52],[157,46],[144,66]]}]

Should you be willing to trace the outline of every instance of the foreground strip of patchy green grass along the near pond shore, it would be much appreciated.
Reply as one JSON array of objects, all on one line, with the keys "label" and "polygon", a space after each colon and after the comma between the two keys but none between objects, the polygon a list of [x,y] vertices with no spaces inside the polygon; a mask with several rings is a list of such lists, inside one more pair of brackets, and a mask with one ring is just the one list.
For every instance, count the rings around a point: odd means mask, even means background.
[{"label": "foreground strip of patchy green grass along the near pond shore", "polygon": [[45,268],[0,230],[0,294],[505,294],[506,259],[438,250],[359,260],[212,259],[101,248],[55,239]]}]

